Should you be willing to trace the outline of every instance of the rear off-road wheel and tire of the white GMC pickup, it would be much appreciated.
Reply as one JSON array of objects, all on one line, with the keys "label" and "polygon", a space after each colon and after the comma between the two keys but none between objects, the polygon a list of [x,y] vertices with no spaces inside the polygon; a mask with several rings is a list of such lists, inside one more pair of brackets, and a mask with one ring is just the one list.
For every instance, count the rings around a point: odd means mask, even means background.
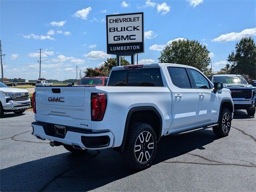
[{"label": "rear off-road wheel and tire of the white GMC pickup", "polygon": [[[141,137],[143,137],[144,142],[141,142]],[[152,126],[146,123],[133,123],[129,125],[123,157],[130,168],[141,170],[151,166],[156,156],[156,148],[157,138]],[[141,153],[143,154],[142,158],[140,158]],[[143,162],[143,158],[146,160],[145,162]]]}]

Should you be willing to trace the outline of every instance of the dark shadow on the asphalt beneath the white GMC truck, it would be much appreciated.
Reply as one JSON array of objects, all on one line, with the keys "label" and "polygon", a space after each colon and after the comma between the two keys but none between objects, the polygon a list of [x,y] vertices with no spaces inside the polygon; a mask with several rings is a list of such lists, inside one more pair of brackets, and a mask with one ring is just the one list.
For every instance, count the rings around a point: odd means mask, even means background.
[{"label": "dark shadow on the asphalt beneath the white GMC truck", "polygon": [[[216,139],[212,130],[165,136],[153,166],[195,149],[203,150]],[[88,191],[132,174],[136,172],[112,149],[88,151],[83,156],[67,152],[0,170],[0,191]]]}]

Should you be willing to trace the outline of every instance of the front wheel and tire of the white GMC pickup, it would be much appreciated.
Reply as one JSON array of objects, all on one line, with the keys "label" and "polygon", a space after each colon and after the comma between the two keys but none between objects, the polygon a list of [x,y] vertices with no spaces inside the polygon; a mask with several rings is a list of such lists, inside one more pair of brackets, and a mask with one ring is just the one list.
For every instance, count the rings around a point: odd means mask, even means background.
[{"label": "front wheel and tire of the white GMC pickup", "polygon": [[222,108],[220,112],[219,125],[213,127],[214,134],[218,137],[228,136],[231,128],[231,114],[227,108]]}]

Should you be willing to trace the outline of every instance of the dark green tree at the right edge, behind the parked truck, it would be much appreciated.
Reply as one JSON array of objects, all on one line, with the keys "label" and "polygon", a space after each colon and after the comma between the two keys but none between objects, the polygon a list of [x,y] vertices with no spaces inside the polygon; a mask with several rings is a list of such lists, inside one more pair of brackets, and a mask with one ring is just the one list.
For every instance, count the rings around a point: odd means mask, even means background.
[{"label": "dark green tree at the right edge, behind the parked truck", "polygon": [[232,74],[245,74],[256,79],[256,45],[251,37],[236,43],[235,52],[228,55],[226,69]]}]

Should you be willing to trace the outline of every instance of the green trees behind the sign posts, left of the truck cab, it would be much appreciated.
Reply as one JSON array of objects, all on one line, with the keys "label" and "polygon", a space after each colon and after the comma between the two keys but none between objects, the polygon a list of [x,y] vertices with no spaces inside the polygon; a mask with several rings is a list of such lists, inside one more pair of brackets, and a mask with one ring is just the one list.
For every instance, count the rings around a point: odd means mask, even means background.
[{"label": "green trees behind the sign posts, left of the truck cab", "polygon": [[[130,65],[130,63],[121,57],[121,66]],[[102,65],[95,68],[87,68],[84,71],[86,77],[105,76],[108,77],[112,67],[116,66],[116,58],[108,58]]]}]

